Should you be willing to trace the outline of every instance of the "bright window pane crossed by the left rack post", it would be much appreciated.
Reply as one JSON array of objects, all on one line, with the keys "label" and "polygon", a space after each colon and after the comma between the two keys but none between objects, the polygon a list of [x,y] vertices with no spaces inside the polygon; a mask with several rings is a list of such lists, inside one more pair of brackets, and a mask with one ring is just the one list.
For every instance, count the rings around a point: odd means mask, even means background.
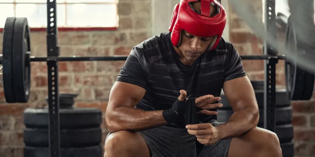
[{"label": "bright window pane crossed by the left rack post", "polygon": [[[57,25],[65,25],[65,5],[57,5]],[[16,17],[26,17],[30,27],[47,27],[46,4],[16,4]]]}]

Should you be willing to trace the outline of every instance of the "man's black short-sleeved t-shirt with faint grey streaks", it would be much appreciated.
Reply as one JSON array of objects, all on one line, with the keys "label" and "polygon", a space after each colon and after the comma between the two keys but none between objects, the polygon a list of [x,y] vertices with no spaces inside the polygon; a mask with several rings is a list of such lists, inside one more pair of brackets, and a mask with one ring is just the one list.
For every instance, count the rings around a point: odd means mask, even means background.
[{"label": "man's black short-sleeved t-shirt with faint grey streaks", "polygon": [[[246,75],[238,52],[223,38],[215,50],[204,52],[191,66],[185,66],[175,52],[170,34],[161,33],[135,46],[120,69],[117,81],[146,89],[135,108],[144,111],[168,109],[181,89],[186,90],[187,98],[220,96],[224,81]],[[216,118],[216,115],[201,114],[197,117],[200,123]],[[185,120],[168,125],[185,127]]]}]

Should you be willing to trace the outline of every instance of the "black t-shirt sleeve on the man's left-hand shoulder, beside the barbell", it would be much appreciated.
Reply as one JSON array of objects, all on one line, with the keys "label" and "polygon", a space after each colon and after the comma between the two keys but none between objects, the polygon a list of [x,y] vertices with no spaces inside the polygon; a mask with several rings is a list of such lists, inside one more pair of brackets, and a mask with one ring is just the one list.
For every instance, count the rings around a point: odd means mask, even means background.
[{"label": "black t-shirt sleeve on the man's left-hand shoulder, beside the barbell", "polygon": [[133,48],[116,81],[147,87],[148,63],[141,50]]}]

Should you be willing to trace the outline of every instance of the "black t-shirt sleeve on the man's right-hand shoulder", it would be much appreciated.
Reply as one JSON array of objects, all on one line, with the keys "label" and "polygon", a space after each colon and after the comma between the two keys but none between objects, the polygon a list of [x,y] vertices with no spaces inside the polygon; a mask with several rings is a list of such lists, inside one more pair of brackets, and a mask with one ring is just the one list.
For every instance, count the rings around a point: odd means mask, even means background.
[{"label": "black t-shirt sleeve on the man's right-hand shoulder", "polygon": [[243,63],[235,47],[231,44],[226,52],[226,68],[224,81],[246,76]]}]

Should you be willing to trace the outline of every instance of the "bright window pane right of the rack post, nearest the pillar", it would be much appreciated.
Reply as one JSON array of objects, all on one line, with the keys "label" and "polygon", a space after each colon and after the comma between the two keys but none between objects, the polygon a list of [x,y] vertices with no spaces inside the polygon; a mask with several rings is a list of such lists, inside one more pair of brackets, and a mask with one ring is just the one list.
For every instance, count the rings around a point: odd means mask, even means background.
[{"label": "bright window pane right of the rack post, nearest the pillar", "polygon": [[67,26],[69,27],[114,27],[116,25],[116,4],[67,4]]}]

